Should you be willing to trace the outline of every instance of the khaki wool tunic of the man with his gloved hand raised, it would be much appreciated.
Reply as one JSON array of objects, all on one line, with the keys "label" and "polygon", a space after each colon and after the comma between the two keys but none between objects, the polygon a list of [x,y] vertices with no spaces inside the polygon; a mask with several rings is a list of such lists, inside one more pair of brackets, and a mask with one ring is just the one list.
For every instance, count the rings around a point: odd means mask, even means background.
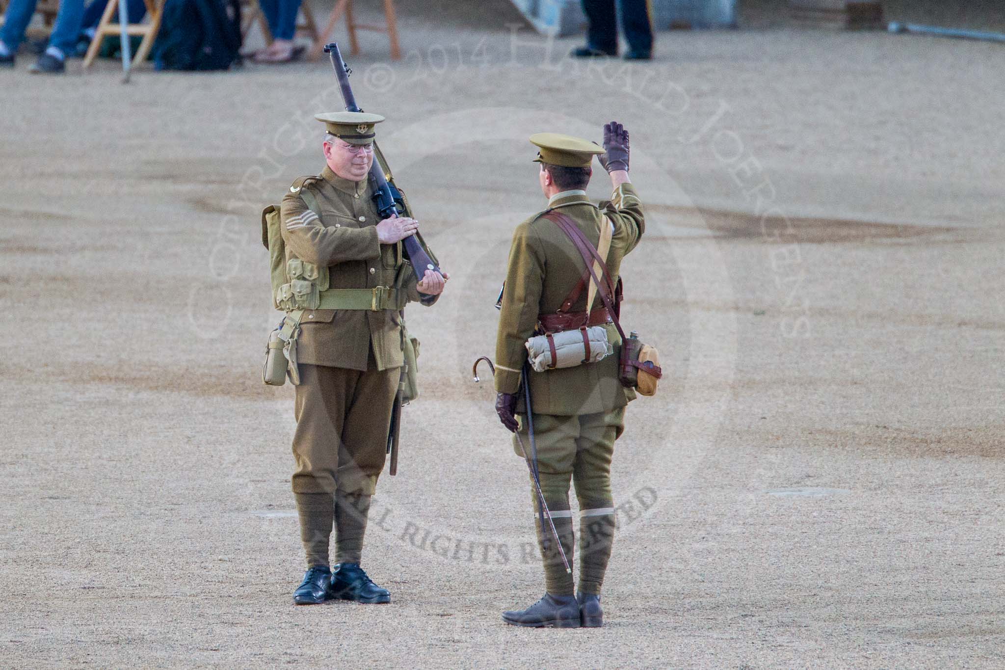
[{"label": "khaki wool tunic of the man with his gloved hand raised", "polygon": [[[556,194],[549,210],[517,226],[495,340],[495,390],[500,393],[517,393],[520,387],[520,371],[527,360],[524,344],[534,334],[538,314],[555,313],[586,269],[572,240],[555,223],[541,218],[552,209],[575,221],[594,247],[600,240],[604,216],[610,220],[614,230],[607,268],[615,282],[621,259],[635,248],[645,232],[642,203],[628,183],[616,188],[611,200],[601,202],[599,207],[583,191]],[[584,290],[570,311],[586,311],[586,300]],[[601,306],[598,295],[593,308]],[[606,328],[614,353],[604,360],[530,373],[535,414],[577,416],[609,412],[635,398],[634,390],[626,389],[618,381],[621,338],[613,324]]]}]

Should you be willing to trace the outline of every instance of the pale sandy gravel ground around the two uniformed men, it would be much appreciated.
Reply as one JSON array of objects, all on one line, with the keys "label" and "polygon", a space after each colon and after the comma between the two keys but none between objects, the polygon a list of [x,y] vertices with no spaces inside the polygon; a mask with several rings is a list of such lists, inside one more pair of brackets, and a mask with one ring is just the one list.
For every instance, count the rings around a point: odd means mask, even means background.
[{"label": "pale sandy gravel ground around the two uniformed men", "polygon": [[[0,665],[1005,665],[1001,46],[674,33],[586,67],[434,19],[351,59],[453,272],[410,310],[364,555],[390,606],[290,604],[291,390],[259,381],[257,213],[322,167],[329,66],[0,72]],[[649,205],[625,320],[668,375],[618,443],[605,628],[514,629],[526,472],[470,364],[542,206],[526,137],[612,118]]]}]

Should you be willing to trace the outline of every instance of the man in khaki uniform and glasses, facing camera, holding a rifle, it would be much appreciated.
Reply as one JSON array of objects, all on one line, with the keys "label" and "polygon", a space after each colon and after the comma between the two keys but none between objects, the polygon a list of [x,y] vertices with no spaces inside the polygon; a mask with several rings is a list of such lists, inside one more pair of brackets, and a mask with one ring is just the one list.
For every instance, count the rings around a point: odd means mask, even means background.
[{"label": "man in khaki uniform and glasses, facing camera, holding a rifle", "polygon": [[280,210],[287,267],[290,259],[327,267],[323,295],[338,307],[304,311],[296,341],[292,488],[308,572],[293,601],[388,603],[387,590],[359,564],[403,364],[400,309],[408,301],[433,304],[447,276],[427,270],[417,282],[406,267],[410,278],[395,287],[401,240],[416,233],[418,222],[377,214],[368,174],[375,126],[384,118],[340,111],[316,119],[326,125],[328,165],[320,176],[293,182]]}]

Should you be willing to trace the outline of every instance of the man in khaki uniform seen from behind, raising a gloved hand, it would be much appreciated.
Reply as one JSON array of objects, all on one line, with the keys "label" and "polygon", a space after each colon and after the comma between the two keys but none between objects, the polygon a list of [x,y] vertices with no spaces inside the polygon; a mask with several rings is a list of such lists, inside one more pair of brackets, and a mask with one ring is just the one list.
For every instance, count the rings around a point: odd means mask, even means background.
[{"label": "man in khaki uniform seen from behind, raising a gloved hand", "polygon": [[[635,248],[645,223],[642,204],[628,179],[628,133],[619,124],[604,127],[604,148],[555,134],[539,134],[531,142],[540,148],[539,180],[548,209],[517,227],[510,250],[506,288],[495,346],[496,411],[502,424],[520,431],[514,448],[530,445],[526,415],[519,424],[521,369],[527,360],[525,343],[545,329],[547,321],[571,295],[586,265],[571,239],[542,215],[558,210],[568,215],[596,247],[601,226],[611,227],[606,262],[616,280],[621,261]],[[608,171],[614,193],[596,206],[586,195],[595,155]],[[541,488],[570,564],[573,562],[573,512],[570,482],[575,484],[580,516],[579,585],[566,572],[551,528],[538,523],[547,593],[527,610],[506,612],[504,620],[518,626],[600,626],[600,589],[614,536],[614,501],[610,468],[614,441],[624,430],[625,406],[635,398],[618,380],[621,339],[610,315],[596,300],[587,315],[587,291],[566,311],[590,325],[605,324],[614,353],[596,363],[529,372],[537,438]],[[599,306],[598,306],[599,305]],[[523,403],[521,402],[521,405]],[[535,507],[537,496],[535,494]],[[550,540],[550,541],[549,541]]]}]

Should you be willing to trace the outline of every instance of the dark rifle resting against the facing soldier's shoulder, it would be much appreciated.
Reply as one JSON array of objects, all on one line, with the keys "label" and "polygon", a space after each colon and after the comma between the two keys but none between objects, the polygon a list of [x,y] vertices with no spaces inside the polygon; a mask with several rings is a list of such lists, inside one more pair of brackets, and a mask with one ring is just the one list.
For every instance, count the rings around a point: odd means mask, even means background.
[{"label": "dark rifle resting against the facing soldier's shoulder", "polygon": [[[328,53],[332,57],[332,67],[335,68],[335,76],[339,79],[339,88],[342,89],[342,99],[346,103],[346,111],[363,111],[360,105],[356,103],[356,95],[353,94],[353,87],[349,84],[349,75],[353,70],[342,59],[342,52],[339,51],[338,43],[332,42],[326,44],[325,53]],[[386,175],[384,174],[385,172],[387,172]],[[401,191],[398,190],[398,187],[394,185],[394,177],[391,175],[391,171],[387,170],[384,155],[377,147],[376,141],[374,141],[374,162],[370,166],[370,178],[376,187],[374,201],[377,204],[377,212],[382,219],[390,219],[396,216],[411,216],[408,202],[401,194]],[[415,271],[415,276],[419,281],[422,281],[426,270],[440,272],[439,264],[429,253],[421,234],[416,232],[415,235],[409,235],[401,243],[405,249],[405,256],[412,264],[412,269]]]}]

